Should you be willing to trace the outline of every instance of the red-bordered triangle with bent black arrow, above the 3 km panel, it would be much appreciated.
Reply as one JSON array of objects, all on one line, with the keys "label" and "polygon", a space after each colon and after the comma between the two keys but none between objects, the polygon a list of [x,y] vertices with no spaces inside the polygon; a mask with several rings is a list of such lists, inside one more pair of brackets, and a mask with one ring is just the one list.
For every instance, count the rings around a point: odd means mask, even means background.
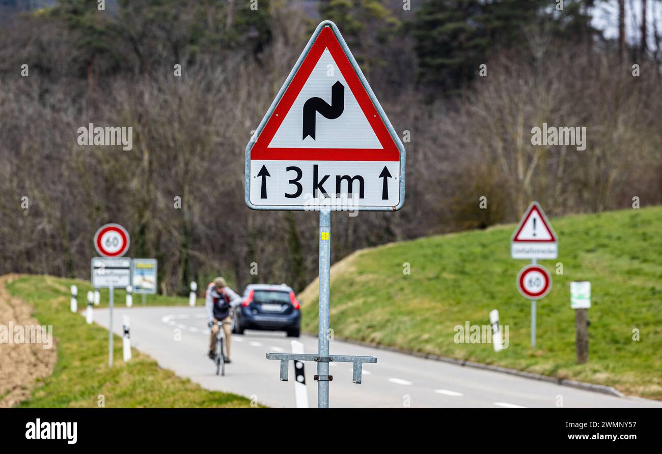
[{"label": "red-bordered triangle with bent black arrow, above the 3 km panel", "polygon": [[256,133],[251,160],[400,161],[397,135],[332,26],[313,36],[297,65]]}]

